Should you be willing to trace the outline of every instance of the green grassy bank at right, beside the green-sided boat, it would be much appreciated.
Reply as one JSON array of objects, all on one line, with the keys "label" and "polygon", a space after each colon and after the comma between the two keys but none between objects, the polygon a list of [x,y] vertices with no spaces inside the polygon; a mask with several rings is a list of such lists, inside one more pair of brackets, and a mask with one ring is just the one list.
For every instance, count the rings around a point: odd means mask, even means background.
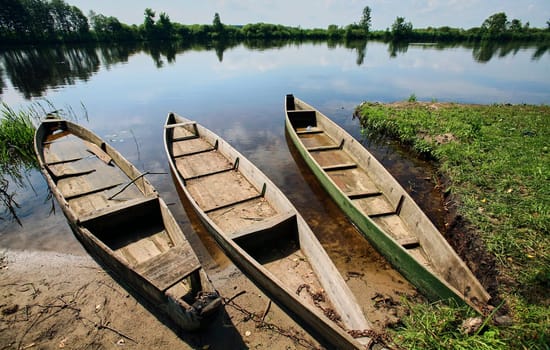
[{"label": "green grassy bank at right, beside the green-sided boat", "polygon": [[[398,139],[436,161],[448,180],[444,190],[459,203],[458,214],[496,258],[499,296],[514,325],[493,327],[489,334],[504,342],[501,348],[548,348],[550,106],[364,103],[357,114],[365,133]],[[424,311],[447,319],[440,308]],[[408,331],[426,334],[415,327],[411,322],[401,336],[408,339]],[[447,341],[453,338],[437,330],[434,336],[440,347],[459,346],[451,346]]]}]

